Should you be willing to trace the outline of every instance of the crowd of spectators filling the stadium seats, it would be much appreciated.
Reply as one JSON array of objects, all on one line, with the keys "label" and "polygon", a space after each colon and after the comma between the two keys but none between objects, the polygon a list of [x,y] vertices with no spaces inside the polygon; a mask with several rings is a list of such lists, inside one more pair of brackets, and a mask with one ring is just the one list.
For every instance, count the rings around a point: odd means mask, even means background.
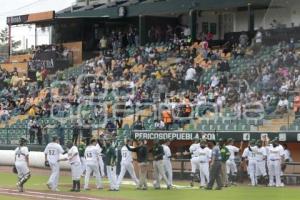
[{"label": "crowd of spectators filling the stadium seats", "polygon": [[[98,106],[91,106],[92,112],[84,117],[88,120],[80,123],[92,125],[107,114],[109,120],[103,128],[110,134],[122,128],[126,110],[138,110],[145,103],[167,105],[161,113],[153,112],[151,116],[156,129],[170,129],[173,124],[183,128],[208,110],[222,113],[224,108],[230,108],[240,119],[256,116],[247,112],[256,105],[262,105],[267,114],[288,112],[293,101],[289,98],[291,92],[300,87],[299,58],[293,40],[264,47],[260,29],[253,41],[243,33],[239,43],[228,41],[222,47],[211,48],[207,39],[194,44],[186,40],[190,35],[187,27],[181,29],[184,37],[176,39],[176,30],[167,26],[163,38],[170,40],[159,46],[137,45],[134,28],[127,34],[103,36],[99,56],[85,61],[81,71],[71,76],[62,71],[48,76],[42,69],[36,74],[38,81],[29,84],[25,77],[15,80],[17,72],[1,70],[1,97],[5,97],[1,103],[1,120],[8,120],[12,113],[28,113],[32,120],[50,117],[51,113],[69,117],[72,110],[88,104],[87,98]],[[157,42],[158,35],[154,27],[148,32],[148,37]],[[135,47],[128,48],[128,44]],[[268,49],[271,50],[265,56]],[[241,70],[234,71],[234,68]],[[106,107],[100,106],[104,101]],[[203,108],[201,113],[193,112],[195,106]],[[32,133],[43,130],[43,126],[38,127],[31,126],[35,130]],[[141,116],[133,127],[145,129]],[[37,138],[40,143],[40,134]]]}]

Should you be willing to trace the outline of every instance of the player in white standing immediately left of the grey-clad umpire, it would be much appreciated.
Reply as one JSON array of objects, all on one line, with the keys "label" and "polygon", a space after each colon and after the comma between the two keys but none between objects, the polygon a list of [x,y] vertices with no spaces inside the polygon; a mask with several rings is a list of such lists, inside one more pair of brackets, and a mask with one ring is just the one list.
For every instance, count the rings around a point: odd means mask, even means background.
[{"label": "player in white standing immediately left of the grey-clad umpire", "polygon": [[211,150],[206,146],[206,141],[200,141],[200,148],[196,150],[199,156],[200,188],[206,187],[209,182],[209,162],[211,161]]}]

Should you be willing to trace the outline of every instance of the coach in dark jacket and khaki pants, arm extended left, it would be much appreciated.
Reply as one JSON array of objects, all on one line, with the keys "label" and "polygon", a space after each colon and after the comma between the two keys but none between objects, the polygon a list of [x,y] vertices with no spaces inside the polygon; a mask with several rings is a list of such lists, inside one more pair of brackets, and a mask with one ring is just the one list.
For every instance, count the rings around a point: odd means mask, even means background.
[{"label": "coach in dark jacket and khaki pants, arm extended left", "polygon": [[129,151],[136,152],[137,161],[139,165],[139,179],[140,184],[138,189],[147,190],[147,167],[148,167],[148,149],[146,146],[147,142],[140,140],[138,141],[138,146],[135,148],[131,148],[128,144],[126,147]]}]

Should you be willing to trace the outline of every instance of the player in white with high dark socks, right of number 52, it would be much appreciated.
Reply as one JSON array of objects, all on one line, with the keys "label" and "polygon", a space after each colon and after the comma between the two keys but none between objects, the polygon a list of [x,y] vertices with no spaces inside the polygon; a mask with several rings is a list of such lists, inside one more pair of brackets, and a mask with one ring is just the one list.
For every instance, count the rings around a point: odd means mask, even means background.
[{"label": "player in white with high dark socks, right of number 52", "polygon": [[80,176],[81,176],[81,163],[78,148],[76,145],[73,145],[72,142],[67,143],[68,151],[68,160],[71,165],[72,181],[73,187],[70,190],[71,192],[80,192]]}]

